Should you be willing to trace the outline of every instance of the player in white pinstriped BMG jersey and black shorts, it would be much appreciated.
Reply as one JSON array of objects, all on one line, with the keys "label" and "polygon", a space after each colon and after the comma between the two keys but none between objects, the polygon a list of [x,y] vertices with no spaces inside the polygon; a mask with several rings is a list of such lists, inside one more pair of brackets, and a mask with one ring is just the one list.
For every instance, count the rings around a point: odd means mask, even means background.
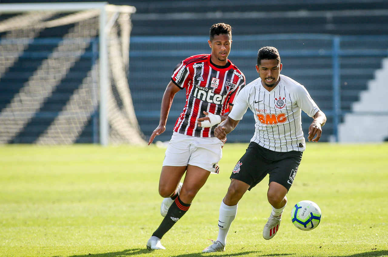
[{"label": "player in white pinstriped BMG jersey and black shorts", "polygon": [[325,114],[306,88],[280,74],[282,64],[275,47],[260,48],[256,70],[259,78],[240,91],[233,110],[215,129],[215,135],[222,140],[236,128],[248,107],[255,116],[255,133],[246,153],[234,167],[228,191],[221,201],[217,240],[212,240],[203,252],[225,251],[226,237],[236,217],[239,200],[246,190],[251,190],[267,174],[267,199],[272,212],[264,226],[263,237],[269,240],[276,235],[287,204],[286,194],[293,184],[306,147],[301,110],[314,119],[308,128],[309,141],[319,140],[321,127],[326,122]]}]

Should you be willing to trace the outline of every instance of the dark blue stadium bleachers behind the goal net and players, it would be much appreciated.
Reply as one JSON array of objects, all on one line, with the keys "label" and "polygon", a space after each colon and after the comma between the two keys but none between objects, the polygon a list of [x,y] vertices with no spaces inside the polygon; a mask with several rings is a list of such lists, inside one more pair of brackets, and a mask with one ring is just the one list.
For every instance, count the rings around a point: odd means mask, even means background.
[{"label": "dark blue stadium bleachers behind the goal net and players", "polygon": [[[6,3],[7,1],[2,1]],[[12,1],[13,3],[15,1]],[[26,1],[23,1],[26,2]],[[34,2],[34,1],[29,1]],[[36,1],[50,2],[50,1]],[[58,1],[57,1],[58,2]],[[68,1],[63,1],[68,2]],[[82,1],[81,1],[82,2]],[[185,57],[208,53],[207,34],[211,24],[226,22],[233,27],[233,45],[230,59],[246,75],[247,82],[257,77],[256,53],[259,47],[274,45],[281,53],[282,74],[305,85],[320,108],[330,114],[333,110],[332,40],[275,38],[274,34],[326,34],[364,36],[388,34],[388,2],[363,0],[303,0],[303,1],[109,1],[130,4],[137,8],[132,15],[133,29],[130,46],[129,83],[140,128],[146,137],[159,122],[161,97],[170,80],[172,69]],[[6,19],[2,16],[0,20]],[[68,28],[62,28],[68,29]],[[61,31],[63,33],[63,31]],[[44,29],[37,38],[55,38],[53,29]],[[259,40],[247,40],[258,35]],[[267,38],[266,36],[267,35]],[[2,34],[0,34],[1,38]],[[160,38],[157,38],[160,36]],[[186,38],[182,38],[186,36]],[[195,37],[194,41],[187,36]],[[165,40],[159,42],[158,40]],[[176,39],[176,40],[174,40]],[[0,78],[0,112],[13,95],[28,81],[37,67],[57,45],[28,45],[23,55]],[[365,50],[386,51],[388,41],[342,40],[341,50],[354,51],[340,58],[341,109],[349,111],[365,90],[367,81],[379,69],[380,55],[362,55]],[[66,104],[70,95],[81,84],[91,69],[91,47],[74,63],[65,78],[47,98],[35,116],[9,143],[32,143],[50,125]],[[307,51],[319,54],[298,54]],[[163,66],[160,66],[163,64]],[[362,64],[362,65],[361,65]],[[168,119],[167,131],[157,140],[170,139],[171,129],[184,105],[184,93],[177,94]],[[96,114],[97,115],[97,114]],[[97,115],[98,116],[98,115]],[[328,115],[322,141],[333,133],[333,121]],[[95,117],[93,116],[93,119]],[[303,116],[303,129],[311,118]],[[93,122],[90,119],[76,142],[92,143]],[[253,134],[253,117],[248,111],[228,141],[247,142]]]}]

